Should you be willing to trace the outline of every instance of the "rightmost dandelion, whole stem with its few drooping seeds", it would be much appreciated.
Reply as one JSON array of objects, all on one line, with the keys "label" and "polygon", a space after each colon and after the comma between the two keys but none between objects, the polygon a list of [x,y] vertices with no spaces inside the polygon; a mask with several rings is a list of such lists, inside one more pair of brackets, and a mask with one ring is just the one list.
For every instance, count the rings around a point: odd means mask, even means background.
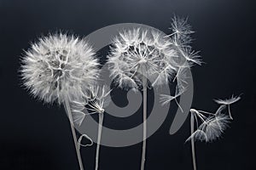
[{"label": "rightmost dandelion, whole stem with its few drooping seeds", "polygon": [[[239,97],[240,99],[240,97]],[[195,161],[195,141],[204,141],[212,142],[221,137],[224,133],[224,130],[229,127],[230,116],[227,116],[224,113],[224,109],[229,108],[230,104],[235,103],[239,100],[237,97],[231,97],[230,99],[218,100],[218,104],[221,104],[218,107],[218,110],[215,113],[208,111],[199,111],[195,109],[190,109],[190,130],[191,135],[186,140],[191,141],[191,150],[192,150],[192,159],[193,167],[196,170],[196,161]],[[216,100],[215,100],[216,101]],[[228,109],[230,113],[230,109]],[[201,125],[199,125],[201,122]],[[195,130],[196,124],[196,130]]]}]

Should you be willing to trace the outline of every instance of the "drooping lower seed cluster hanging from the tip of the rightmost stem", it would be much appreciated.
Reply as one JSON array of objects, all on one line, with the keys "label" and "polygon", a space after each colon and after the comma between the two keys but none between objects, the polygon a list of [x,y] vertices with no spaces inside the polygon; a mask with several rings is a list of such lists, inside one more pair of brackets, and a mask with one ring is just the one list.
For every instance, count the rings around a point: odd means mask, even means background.
[{"label": "drooping lower seed cluster hanging from the tip of the rightmost stem", "polygon": [[[193,116],[198,116],[202,123],[197,128],[197,130],[190,135],[186,142],[192,138],[195,139],[195,141],[200,140],[205,142],[212,142],[215,139],[221,137],[222,133],[224,133],[224,130],[229,126],[228,124],[230,122],[230,117],[224,113],[218,112],[218,115],[213,114],[206,117],[201,114],[201,111],[196,111],[195,109],[191,109],[190,112],[193,114]],[[196,123],[198,123],[197,118],[195,120]]]}]

